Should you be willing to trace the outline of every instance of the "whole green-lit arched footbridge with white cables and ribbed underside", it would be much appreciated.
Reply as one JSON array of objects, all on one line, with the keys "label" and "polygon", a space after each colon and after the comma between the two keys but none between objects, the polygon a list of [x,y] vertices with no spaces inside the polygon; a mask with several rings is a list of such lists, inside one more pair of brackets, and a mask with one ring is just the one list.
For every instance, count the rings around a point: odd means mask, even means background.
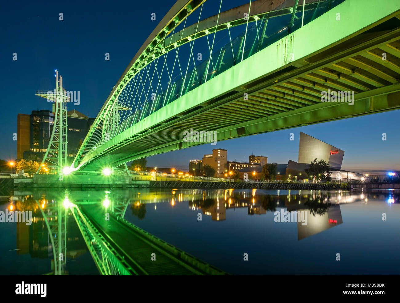
[{"label": "whole green-lit arched footbridge with white cables and ribbed underside", "polygon": [[205,143],[185,132],[221,141],[400,108],[400,2],[229,5],[172,6],[112,88],[74,170]]}]

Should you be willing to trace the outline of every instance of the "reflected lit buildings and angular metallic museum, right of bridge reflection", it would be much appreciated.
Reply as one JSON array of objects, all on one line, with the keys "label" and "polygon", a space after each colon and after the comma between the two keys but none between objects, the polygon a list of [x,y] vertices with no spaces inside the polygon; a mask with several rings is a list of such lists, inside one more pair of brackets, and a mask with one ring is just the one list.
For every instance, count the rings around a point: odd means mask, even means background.
[{"label": "reflected lit buildings and angular metallic museum, right of bridge reflection", "polygon": [[[273,194],[271,194],[273,192]],[[385,196],[385,197],[383,197]],[[268,212],[280,211],[307,212],[308,222],[302,225],[297,223],[298,240],[305,239],[343,223],[340,205],[345,203],[368,203],[369,199],[399,203],[399,195],[393,192],[382,191],[265,191],[260,189],[195,189],[179,190],[144,190],[140,193],[136,209],[132,213],[139,219],[144,218],[147,203],[170,203],[173,207],[176,202],[187,202],[190,211],[202,212],[210,216],[212,221],[224,221],[229,218],[229,212],[234,209],[247,208],[248,215],[266,215]],[[139,212],[141,209],[141,213]]]}]

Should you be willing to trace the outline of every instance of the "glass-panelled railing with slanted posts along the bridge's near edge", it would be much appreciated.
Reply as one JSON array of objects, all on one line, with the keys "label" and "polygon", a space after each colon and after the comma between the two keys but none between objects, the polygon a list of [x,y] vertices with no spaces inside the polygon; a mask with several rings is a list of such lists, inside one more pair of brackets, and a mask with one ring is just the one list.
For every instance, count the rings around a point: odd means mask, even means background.
[{"label": "glass-panelled railing with slanted posts along the bridge's near edge", "polygon": [[[213,49],[216,51],[210,54],[205,60],[202,60],[200,64],[196,66],[189,64],[188,67],[191,68],[192,66],[192,68],[186,70],[184,78],[172,76],[172,79],[178,78],[178,80],[171,82],[161,92],[157,93],[160,94],[160,98],[147,98],[144,106],[138,110],[136,119],[129,122],[132,125],[139,122],[146,118],[146,116],[204,84],[207,80],[214,78],[256,52],[294,32],[302,27],[302,24],[308,24],[343,1],[315,1],[314,5],[308,6],[304,12],[304,20],[302,20],[302,11],[300,10],[296,10],[292,14],[279,16],[279,21],[271,20],[272,18],[266,16],[256,20],[251,26],[248,26],[246,30],[225,45],[218,47],[214,45]],[[126,121],[120,121],[120,125],[123,125],[124,122]]]}]

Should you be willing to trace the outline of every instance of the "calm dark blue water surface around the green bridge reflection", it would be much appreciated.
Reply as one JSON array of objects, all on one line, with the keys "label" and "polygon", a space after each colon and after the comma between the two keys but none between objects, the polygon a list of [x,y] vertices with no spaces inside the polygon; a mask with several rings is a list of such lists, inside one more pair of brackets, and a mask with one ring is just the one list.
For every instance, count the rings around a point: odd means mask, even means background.
[{"label": "calm dark blue water surface around the green bridge reflection", "polygon": [[[33,222],[0,223],[1,274],[52,271],[40,207],[66,197],[124,209],[126,220],[231,274],[400,274],[399,192],[367,189],[3,191],[0,211],[32,211]],[[98,274],[70,212],[66,226],[66,270]]]}]

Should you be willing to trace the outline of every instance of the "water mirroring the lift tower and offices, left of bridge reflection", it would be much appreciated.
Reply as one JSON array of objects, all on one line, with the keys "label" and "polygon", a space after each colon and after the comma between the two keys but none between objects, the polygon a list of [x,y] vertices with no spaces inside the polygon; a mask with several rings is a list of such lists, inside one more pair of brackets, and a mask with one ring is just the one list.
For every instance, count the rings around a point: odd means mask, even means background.
[{"label": "water mirroring the lift tower and offices, left of bridge reflection", "polygon": [[[68,275],[67,262],[71,265],[72,274],[85,273],[76,271],[73,264],[88,249],[66,205],[68,200],[64,194],[2,190],[1,214],[7,214],[9,218],[15,214],[14,222],[7,222],[0,215],[2,274]],[[26,213],[26,218],[31,215],[31,222],[21,221],[18,212]],[[87,273],[97,274],[93,267],[86,269]]]}]

